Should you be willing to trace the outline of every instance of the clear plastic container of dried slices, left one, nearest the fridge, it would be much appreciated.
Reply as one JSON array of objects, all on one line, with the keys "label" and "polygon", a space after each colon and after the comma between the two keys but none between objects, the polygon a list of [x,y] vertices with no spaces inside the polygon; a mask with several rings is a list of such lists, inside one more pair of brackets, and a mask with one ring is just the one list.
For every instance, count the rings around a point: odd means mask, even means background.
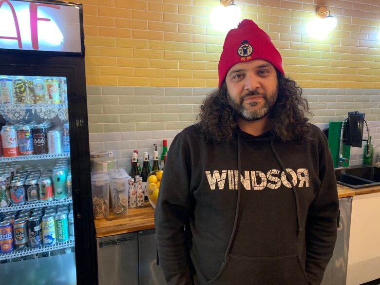
[{"label": "clear plastic container of dried slices, left one, nearest the fridge", "polygon": [[107,174],[94,174],[91,178],[94,219],[108,218],[110,179]]}]

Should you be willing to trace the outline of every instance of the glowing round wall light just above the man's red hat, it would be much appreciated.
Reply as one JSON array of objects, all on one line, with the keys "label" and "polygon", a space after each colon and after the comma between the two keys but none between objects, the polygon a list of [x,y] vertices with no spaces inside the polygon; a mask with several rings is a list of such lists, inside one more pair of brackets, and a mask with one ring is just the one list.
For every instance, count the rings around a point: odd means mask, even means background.
[{"label": "glowing round wall light just above the man's red hat", "polygon": [[241,21],[240,8],[233,0],[220,0],[220,4],[211,11],[210,22],[215,30],[228,32]]}]

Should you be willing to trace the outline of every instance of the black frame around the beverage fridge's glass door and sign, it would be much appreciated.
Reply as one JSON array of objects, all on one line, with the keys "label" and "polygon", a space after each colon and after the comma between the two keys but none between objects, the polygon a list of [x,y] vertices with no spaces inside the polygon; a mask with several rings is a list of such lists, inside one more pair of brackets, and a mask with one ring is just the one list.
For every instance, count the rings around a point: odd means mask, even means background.
[{"label": "black frame around the beverage fridge's glass door and sign", "polygon": [[26,0],[79,7],[81,53],[0,49],[0,74],[65,76],[70,124],[70,161],[75,227],[76,284],[97,285],[96,234],[90,177],[86,73],[82,4]]}]

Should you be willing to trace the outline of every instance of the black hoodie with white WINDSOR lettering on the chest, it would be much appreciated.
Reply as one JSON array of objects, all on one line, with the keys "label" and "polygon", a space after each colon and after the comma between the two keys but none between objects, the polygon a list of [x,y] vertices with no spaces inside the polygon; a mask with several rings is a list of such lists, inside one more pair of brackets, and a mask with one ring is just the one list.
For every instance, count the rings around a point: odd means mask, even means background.
[{"label": "black hoodie with white WINDSOR lettering on the chest", "polygon": [[214,143],[198,124],[174,138],[155,211],[169,285],[321,283],[339,204],[326,138],[310,127],[304,142],[238,129]]}]

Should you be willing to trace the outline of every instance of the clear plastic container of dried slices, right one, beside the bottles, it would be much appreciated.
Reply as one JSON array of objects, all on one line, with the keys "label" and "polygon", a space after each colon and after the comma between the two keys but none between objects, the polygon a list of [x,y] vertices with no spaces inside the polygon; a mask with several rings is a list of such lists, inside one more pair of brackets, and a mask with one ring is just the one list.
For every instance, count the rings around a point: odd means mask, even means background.
[{"label": "clear plastic container of dried slices, right one, beside the bottles", "polygon": [[128,213],[128,175],[118,175],[111,179],[111,199],[115,216]]}]

